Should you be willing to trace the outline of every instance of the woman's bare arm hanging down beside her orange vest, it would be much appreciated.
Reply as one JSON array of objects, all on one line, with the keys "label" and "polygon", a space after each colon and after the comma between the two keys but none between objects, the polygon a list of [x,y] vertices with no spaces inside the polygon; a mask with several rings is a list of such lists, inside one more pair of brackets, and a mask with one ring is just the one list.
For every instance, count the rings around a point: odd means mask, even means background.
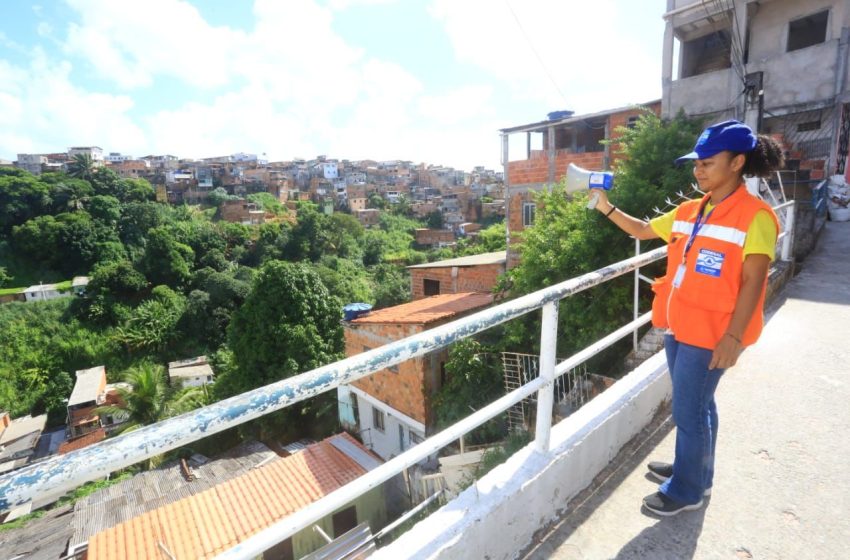
[{"label": "woman's bare arm hanging down beside her orange vest", "polygon": [[735,310],[732,312],[732,320],[729,321],[726,333],[714,349],[708,369],[732,367],[738,361],[738,356],[744,349],[741,338],[756,310],[769,269],[768,255],[752,254],[744,258],[741,289],[735,302]]}]

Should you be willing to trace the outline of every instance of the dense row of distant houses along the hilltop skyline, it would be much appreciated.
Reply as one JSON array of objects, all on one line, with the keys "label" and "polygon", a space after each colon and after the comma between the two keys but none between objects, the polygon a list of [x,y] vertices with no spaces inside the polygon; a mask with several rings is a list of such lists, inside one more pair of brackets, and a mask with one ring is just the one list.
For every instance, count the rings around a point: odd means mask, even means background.
[{"label": "dense row of distant houses along the hilltop skyline", "polygon": [[[464,234],[462,224],[504,215],[503,172],[478,166],[472,171],[415,164],[405,160],[294,158],[270,162],[265,154],[236,153],[202,159],[175,155],[135,157],[104,152],[99,146],[74,146],[61,153],[18,154],[14,162],[0,162],[33,174],[68,170],[75,157],[87,155],[95,167],[106,167],[122,178],[146,179],[154,185],[157,200],[171,204],[207,202],[216,189],[237,199],[266,192],[283,204],[310,200],[325,211],[347,210],[369,227],[377,224],[383,206],[406,202],[410,212],[426,218],[442,217],[441,229]],[[221,191],[218,191],[221,193]],[[222,193],[224,194],[224,193]],[[255,204],[231,199],[223,219],[246,224],[262,223]]]}]

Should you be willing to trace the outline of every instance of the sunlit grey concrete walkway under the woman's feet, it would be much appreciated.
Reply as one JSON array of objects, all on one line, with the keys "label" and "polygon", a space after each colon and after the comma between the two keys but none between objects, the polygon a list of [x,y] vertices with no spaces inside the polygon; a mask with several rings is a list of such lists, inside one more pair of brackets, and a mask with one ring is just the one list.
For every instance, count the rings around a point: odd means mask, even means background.
[{"label": "sunlit grey concrete walkway under the woman's feet", "polygon": [[641,511],[657,488],[646,462],[673,457],[675,430],[659,415],[523,558],[850,558],[850,222],[827,223],[768,314],[720,382],[706,507]]}]

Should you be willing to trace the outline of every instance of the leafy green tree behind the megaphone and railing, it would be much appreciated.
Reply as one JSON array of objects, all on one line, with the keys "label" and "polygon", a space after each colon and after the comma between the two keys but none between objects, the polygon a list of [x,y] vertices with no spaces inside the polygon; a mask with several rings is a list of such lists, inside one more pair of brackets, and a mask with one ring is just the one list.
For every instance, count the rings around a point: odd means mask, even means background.
[{"label": "leafy green tree behind the megaphone and railing", "polygon": [[[676,117],[662,122],[645,113],[633,129],[620,129],[621,160],[610,192],[613,204],[633,216],[663,207],[666,198],[688,191],[692,177],[673,165],[693,146],[701,123]],[[537,197],[535,223],[522,234],[519,266],[505,286],[511,295],[526,294],[633,255],[634,242],[598,212],[585,209],[586,198],[563,194],[563,185]],[[646,249],[646,247],[645,247]],[[644,294],[645,297],[648,294]],[[568,355],[622,326],[631,318],[630,279],[617,279],[561,301],[558,351]],[[523,351],[538,344],[537,314],[505,326],[503,341]],[[615,350],[616,353],[616,350]]]}]

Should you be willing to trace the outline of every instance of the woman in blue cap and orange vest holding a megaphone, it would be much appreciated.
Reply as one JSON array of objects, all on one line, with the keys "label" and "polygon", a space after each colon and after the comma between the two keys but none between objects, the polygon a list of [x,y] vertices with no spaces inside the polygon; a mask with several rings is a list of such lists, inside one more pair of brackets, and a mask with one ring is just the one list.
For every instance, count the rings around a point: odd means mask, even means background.
[{"label": "woman in blue cap and orange vest holding a megaphone", "polygon": [[702,507],[711,493],[717,443],[714,391],[726,368],[758,339],[767,273],[779,223],[773,210],[747,192],[744,176],[766,177],[782,166],[771,138],[730,120],[703,131],[694,151],[701,200],[687,201],[649,223],[613,206],[598,190],[596,209],[638,239],[668,243],[667,274],[653,285],[652,323],[667,329],[664,348],[673,382],[676,455],[652,462],[662,481],[643,500],[658,515]]}]

